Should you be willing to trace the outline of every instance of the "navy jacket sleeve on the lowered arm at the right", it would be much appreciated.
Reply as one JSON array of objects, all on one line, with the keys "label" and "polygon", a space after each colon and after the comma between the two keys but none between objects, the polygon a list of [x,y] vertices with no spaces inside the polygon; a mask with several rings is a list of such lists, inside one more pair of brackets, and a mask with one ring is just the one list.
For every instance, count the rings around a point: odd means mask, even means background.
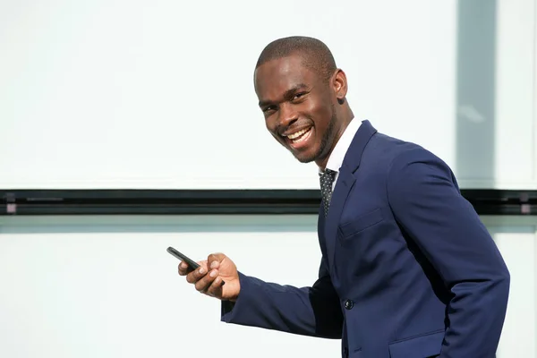
[{"label": "navy jacket sleeve on the lowered arm at the right", "polygon": [[390,167],[388,201],[398,224],[451,291],[440,357],[494,357],[509,272],[449,167],[425,149],[406,151]]}]

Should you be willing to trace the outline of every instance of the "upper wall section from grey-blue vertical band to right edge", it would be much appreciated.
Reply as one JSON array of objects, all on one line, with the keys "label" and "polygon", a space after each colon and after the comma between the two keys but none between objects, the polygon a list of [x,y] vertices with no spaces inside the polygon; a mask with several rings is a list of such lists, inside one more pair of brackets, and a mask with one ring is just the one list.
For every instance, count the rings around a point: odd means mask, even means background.
[{"label": "upper wall section from grey-blue vertical band to right edge", "polygon": [[463,187],[537,188],[534,0],[458,2],[456,175]]}]

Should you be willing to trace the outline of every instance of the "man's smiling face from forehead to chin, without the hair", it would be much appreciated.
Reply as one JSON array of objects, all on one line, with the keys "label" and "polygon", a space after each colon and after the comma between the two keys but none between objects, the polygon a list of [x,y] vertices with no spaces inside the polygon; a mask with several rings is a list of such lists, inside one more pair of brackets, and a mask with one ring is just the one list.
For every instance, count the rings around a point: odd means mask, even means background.
[{"label": "man's smiling face from forehead to chin, without the hair", "polygon": [[260,65],[255,90],[274,138],[303,163],[324,162],[339,130],[330,83],[290,55]]}]

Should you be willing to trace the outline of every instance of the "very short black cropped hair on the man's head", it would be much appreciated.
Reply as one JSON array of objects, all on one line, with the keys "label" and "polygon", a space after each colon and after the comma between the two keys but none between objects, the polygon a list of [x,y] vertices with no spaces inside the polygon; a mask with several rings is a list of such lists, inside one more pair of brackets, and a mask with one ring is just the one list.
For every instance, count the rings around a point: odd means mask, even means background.
[{"label": "very short black cropped hair on the man's head", "polygon": [[255,68],[270,60],[300,54],[303,56],[303,64],[320,77],[328,81],[330,76],[337,70],[336,61],[328,46],[318,38],[307,36],[290,36],[277,38],[270,42],[261,51]]}]

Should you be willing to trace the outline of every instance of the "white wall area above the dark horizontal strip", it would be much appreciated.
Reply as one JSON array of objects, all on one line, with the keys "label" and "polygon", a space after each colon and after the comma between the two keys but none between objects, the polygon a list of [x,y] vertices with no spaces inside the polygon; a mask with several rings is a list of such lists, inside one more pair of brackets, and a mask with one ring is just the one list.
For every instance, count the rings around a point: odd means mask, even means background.
[{"label": "white wall area above the dark horizontal strip", "polygon": [[333,50],[358,119],[462,187],[537,188],[535,0],[303,4],[0,1],[0,188],[317,188],[252,86],[295,34]]}]

